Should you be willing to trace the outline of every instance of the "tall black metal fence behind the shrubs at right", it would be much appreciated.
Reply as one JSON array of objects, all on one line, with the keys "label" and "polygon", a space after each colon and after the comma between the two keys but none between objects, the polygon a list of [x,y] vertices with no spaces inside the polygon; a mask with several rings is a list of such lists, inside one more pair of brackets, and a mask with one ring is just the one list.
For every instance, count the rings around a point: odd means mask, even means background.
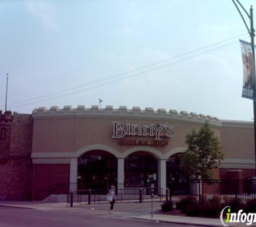
[{"label": "tall black metal fence behind the shrubs at right", "polygon": [[196,197],[198,201],[218,198],[227,203],[232,198],[241,202],[256,198],[256,179],[246,180],[190,180],[170,184],[170,200],[179,202],[184,197]]}]

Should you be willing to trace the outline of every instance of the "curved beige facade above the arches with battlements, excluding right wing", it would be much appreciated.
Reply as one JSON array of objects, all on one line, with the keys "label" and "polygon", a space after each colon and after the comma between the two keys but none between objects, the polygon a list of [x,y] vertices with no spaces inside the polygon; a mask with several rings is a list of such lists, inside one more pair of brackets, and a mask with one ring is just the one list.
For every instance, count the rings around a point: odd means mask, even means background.
[{"label": "curved beige facade above the arches with battlements, excluding right wing", "polygon": [[[88,149],[111,151],[116,157],[126,157],[129,153],[141,150],[151,152],[156,158],[169,158],[173,153],[180,152],[185,147],[185,136],[192,129],[198,130],[206,120],[209,120],[216,136],[220,138],[220,122],[217,118],[196,115],[184,111],[166,112],[148,108],[144,111],[123,107],[114,110],[106,109],[71,109],[58,110],[39,109],[33,112],[33,146],[32,157],[77,157]],[[135,146],[119,145],[118,139],[113,138],[113,122],[150,125],[162,124],[174,126],[175,136],[164,138],[167,146]],[[124,137],[124,139],[148,139],[154,137]],[[102,149],[103,149],[102,148]],[[112,152],[113,151],[113,152]]]}]

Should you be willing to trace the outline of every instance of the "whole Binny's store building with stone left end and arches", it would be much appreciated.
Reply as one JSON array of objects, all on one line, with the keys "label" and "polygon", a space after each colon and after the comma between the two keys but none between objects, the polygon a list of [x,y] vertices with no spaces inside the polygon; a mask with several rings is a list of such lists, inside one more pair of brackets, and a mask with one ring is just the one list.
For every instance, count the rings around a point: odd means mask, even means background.
[{"label": "whole Binny's store building with stone left end and arches", "polygon": [[166,188],[182,180],[177,154],[206,120],[225,158],[215,178],[255,176],[253,122],[134,107],[0,112],[0,199],[43,200],[69,189],[110,185]]}]

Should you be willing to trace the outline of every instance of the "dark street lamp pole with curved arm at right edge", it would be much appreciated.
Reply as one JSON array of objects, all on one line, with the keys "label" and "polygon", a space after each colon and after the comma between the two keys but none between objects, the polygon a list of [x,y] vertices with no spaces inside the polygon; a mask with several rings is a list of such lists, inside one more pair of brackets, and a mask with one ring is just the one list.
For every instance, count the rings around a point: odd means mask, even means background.
[{"label": "dark street lamp pole with curved arm at right edge", "polygon": [[[252,55],[253,55],[253,71],[254,71],[254,75],[253,75],[253,81],[254,81],[254,89],[253,89],[253,118],[254,118],[254,160],[255,160],[255,165],[256,165],[256,80],[255,80],[255,49],[254,49],[254,36],[255,36],[255,30],[254,30],[254,27],[253,27],[253,8],[252,8],[252,5],[251,5],[251,8],[250,8],[250,15],[249,13],[245,10],[244,6],[238,1],[238,4],[241,6],[241,8],[245,11],[246,15],[248,16],[248,18],[250,19],[250,29],[248,28],[246,22],[245,22],[245,19],[242,15],[242,13],[240,12],[239,8],[238,8],[238,5],[236,4],[236,2],[234,0],[232,0],[234,5],[236,6],[241,18],[243,19],[244,23],[245,23],[245,26],[246,26],[246,29],[248,31],[248,33],[250,34],[250,37],[251,37],[251,45],[252,45]],[[255,166],[255,176],[256,176],[256,166]]]}]

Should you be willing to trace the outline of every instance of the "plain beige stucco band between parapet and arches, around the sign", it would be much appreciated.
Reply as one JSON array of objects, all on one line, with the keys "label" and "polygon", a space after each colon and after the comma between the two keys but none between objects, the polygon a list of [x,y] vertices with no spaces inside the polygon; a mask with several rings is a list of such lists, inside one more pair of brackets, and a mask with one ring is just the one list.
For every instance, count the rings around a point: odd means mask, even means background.
[{"label": "plain beige stucco band between parapet and arches, around the sign", "polygon": [[[156,120],[129,120],[133,124],[141,125],[161,123],[161,121]],[[121,146],[118,143],[119,139],[112,138],[114,121],[126,122],[126,120],[120,118],[46,118],[34,120],[33,152],[76,152],[81,147],[92,144],[104,144],[123,153],[131,146]],[[192,129],[198,130],[199,128],[199,125],[166,122],[168,125],[174,126],[176,134],[172,138],[165,139],[169,141],[168,146],[154,146],[154,148],[163,154],[175,147],[185,147],[184,138],[186,133],[190,132]],[[219,130],[216,130],[216,132],[220,134]],[[129,137],[129,139],[134,138],[154,140],[154,137]]]}]

